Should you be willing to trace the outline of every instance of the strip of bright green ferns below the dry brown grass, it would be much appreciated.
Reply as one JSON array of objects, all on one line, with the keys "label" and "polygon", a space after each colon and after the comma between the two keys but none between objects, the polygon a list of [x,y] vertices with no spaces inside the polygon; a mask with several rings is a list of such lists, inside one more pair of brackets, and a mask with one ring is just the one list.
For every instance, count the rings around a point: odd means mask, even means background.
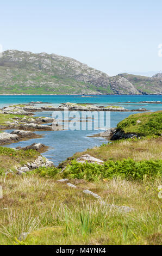
[{"label": "strip of bright green ferns below the dry brown grass", "polygon": [[97,163],[78,163],[72,161],[63,173],[63,178],[86,179],[98,181],[121,177],[129,180],[154,178],[162,174],[162,160],[135,162],[132,159],[122,161],[107,161],[103,165]]}]

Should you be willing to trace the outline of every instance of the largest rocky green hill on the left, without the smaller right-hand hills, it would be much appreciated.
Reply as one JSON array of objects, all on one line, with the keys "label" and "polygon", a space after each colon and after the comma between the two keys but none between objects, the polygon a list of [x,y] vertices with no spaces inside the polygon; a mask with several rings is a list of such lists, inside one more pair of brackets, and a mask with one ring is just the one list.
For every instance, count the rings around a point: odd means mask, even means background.
[{"label": "largest rocky green hill on the left, without the smaller right-hand hills", "polygon": [[113,93],[109,76],[72,58],[9,50],[0,59],[0,93]]}]

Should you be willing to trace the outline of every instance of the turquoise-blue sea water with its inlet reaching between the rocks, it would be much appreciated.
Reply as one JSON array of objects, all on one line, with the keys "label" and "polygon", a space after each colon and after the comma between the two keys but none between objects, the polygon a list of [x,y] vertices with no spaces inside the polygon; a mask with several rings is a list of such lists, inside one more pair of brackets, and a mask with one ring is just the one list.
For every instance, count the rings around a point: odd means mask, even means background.
[{"label": "turquoise-blue sea water with its inlet reaching between the rocks", "polygon": [[[139,101],[162,101],[161,95],[95,95],[92,97],[81,97],[79,95],[0,95],[0,108],[17,103],[29,103],[30,101],[51,102],[50,105],[58,106],[63,102],[76,103],[94,103],[101,106],[115,103],[117,106],[123,106],[128,109],[146,108],[149,111],[161,110],[161,104],[146,104],[146,103],[124,103],[139,102]],[[49,105],[49,104],[47,104]],[[40,104],[38,106],[41,106]],[[136,112],[111,112],[110,126],[115,127],[119,121]],[[52,112],[36,113],[36,116],[51,117]],[[43,153],[54,164],[64,161],[67,157],[72,156],[78,151],[83,151],[87,148],[92,148],[101,145],[105,142],[102,137],[88,137],[98,133],[99,131],[46,131],[36,132],[44,135],[39,139],[30,139],[6,145],[5,147],[15,148],[18,145],[26,147],[34,142],[39,142],[49,147],[48,151]]]}]

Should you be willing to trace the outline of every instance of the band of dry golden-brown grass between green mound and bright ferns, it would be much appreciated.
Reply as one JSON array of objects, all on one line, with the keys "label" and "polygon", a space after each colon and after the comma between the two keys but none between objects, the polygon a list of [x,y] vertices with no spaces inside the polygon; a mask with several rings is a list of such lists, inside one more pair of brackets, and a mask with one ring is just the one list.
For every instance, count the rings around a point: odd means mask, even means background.
[{"label": "band of dry golden-brown grass between green mound and bright ferns", "polygon": [[[87,149],[82,153],[76,153],[71,159],[76,159],[84,154],[90,154],[103,161],[117,161],[128,159],[129,157],[135,161],[157,160],[162,158],[162,137],[139,139],[137,141],[124,140],[119,143],[110,143],[104,147],[95,147]],[[66,162],[67,161],[65,161],[65,163]]]}]

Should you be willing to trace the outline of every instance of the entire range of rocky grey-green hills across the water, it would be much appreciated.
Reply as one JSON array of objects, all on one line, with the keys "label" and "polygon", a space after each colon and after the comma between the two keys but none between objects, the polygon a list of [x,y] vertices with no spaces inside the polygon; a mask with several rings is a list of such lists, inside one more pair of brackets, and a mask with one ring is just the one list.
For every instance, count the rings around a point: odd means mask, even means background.
[{"label": "entire range of rocky grey-green hills across the water", "polygon": [[0,94],[162,94],[162,74],[113,77],[69,57],[7,50]]}]

